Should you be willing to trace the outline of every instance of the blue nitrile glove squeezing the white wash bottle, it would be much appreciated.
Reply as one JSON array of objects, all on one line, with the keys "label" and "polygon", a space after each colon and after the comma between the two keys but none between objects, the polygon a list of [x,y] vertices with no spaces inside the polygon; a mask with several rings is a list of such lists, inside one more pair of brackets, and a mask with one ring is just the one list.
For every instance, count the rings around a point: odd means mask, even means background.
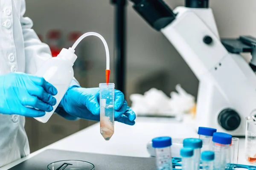
[{"label": "blue nitrile glove squeezing the white wash bottle", "polygon": [[0,113],[44,116],[45,111],[52,111],[52,106],[56,104],[52,96],[56,94],[57,89],[42,77],[24,73],[1,75]]}]

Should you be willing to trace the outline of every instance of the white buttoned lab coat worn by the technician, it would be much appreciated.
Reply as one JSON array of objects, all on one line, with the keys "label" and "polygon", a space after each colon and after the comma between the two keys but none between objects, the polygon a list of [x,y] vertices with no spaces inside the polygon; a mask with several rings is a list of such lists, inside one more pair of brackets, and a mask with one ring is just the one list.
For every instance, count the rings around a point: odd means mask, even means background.
[{"label": "white buttoned lab coat worn by the technician", "polygon": [[[32,20],[23,17],[25,0],[0,0],[0,74],[35,74],[51,56],[32,28]],[[0,114],[0,167],[29,154],[24,130],[25,117]]]}]

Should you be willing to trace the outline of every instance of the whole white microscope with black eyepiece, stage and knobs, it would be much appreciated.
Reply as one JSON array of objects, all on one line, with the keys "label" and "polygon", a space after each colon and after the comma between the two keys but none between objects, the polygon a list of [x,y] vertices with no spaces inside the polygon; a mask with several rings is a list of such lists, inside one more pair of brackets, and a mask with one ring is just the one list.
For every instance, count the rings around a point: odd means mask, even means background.
[{"label": "whole white microscope with black eyepiece, stage and knobs", "polygon": [[[245,135],[256,114],[256,38],[221,40],[209,0],[186,0],[172,10],[163,0],[131,0],[133,8],[161,31],[199,80],[196,127]],[[241,52],[250,52],[248,63]],[[170,56],[171,57],[171,56]]]}]

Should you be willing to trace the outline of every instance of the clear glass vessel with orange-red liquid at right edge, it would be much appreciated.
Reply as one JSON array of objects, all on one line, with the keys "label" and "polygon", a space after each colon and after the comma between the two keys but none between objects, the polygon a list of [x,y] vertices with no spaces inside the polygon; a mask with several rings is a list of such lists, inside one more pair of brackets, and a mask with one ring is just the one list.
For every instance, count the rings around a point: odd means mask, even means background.
[{"label": "clear glass vessel with orange-red liquid at right edge", "polygon": [[247,117],[245,131],[245,158],[256,164],[256,121],[254,116]]}]

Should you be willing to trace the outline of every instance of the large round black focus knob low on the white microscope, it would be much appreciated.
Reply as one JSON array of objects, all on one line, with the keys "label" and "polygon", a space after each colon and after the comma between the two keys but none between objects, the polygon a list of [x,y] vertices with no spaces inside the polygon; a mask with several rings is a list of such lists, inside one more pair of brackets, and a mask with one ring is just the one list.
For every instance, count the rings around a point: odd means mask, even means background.
[{"label": "large round black focus knob low on the white microscope", "polygon": [[232,109],[224,109],[218,115],[218,123],[226,130],[235,130],[239,127],[240,122],[239,114]]}]

